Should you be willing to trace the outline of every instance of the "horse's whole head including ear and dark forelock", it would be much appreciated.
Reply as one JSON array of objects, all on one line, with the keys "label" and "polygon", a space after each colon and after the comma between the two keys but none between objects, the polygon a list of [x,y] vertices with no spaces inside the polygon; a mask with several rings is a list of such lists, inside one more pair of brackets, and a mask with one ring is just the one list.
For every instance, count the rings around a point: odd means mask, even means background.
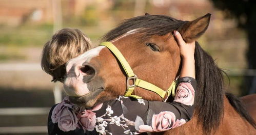
[{"label": "horse's whole head including ear and dark forelock", "polygon": [[[172,32],[178,30],[185,41],[191,42],[205,32],[209,20],[210,14],[193,21],[162,15],[139,16],[107,33],[105,40],[122,52],[137,77],[167,90],[181,67],[179,46]],[[83,53],[66,66],[65,91],[74,103],[90,107],[126,91],[126,74],[105,46]],[[159,95],[139,87],[134,95],[161,100]]]}]

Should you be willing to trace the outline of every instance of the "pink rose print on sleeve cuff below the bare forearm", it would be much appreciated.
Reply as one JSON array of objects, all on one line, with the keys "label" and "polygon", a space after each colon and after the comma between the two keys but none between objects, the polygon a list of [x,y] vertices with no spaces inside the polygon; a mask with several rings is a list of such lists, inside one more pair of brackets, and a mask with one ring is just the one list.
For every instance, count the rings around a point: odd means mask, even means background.
[{"label": "pink rose print on sleeve cuff below the bare forearm", "polygon": [[180,102],[186,105],[194,104],[194,89],[190,83],[180,83],[177,87],[174,102]]}]

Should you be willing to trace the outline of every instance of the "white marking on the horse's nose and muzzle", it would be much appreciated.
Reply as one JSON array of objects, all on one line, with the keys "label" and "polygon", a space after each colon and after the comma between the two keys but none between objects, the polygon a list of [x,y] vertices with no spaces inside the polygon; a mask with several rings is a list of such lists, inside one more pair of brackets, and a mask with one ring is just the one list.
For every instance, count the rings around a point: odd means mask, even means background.
[{"label": "white marking on the horse's nose and muzzle", "polygon": [[100,51],[105,46],[97,46],[83,53],[82,55],[71,59],[66,64],[67,77],[64,82],[64,89],[67,95],[80,97],[88,94],[90,91],[87,84],[83,82],[83,74],[80,67],[84,62],[90,62],[90,60],[96,56],[99,56]]}]

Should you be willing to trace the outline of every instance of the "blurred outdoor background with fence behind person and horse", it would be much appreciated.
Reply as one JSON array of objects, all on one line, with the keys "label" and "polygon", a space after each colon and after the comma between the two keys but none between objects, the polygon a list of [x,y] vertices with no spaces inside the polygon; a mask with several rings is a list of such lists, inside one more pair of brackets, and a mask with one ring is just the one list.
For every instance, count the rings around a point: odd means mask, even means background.
[{"label": "blurred outdoor background with fence behind person and horse", "polygon": [[44,44],[62,28],[80,29],[94,45],[134,16],[164,14],[193,20],[211,13],[199,39],[237,96],[256,93],[256,2],[253,0],[0,0],[0,134],[47,134],[61,84],[40,66]]}]

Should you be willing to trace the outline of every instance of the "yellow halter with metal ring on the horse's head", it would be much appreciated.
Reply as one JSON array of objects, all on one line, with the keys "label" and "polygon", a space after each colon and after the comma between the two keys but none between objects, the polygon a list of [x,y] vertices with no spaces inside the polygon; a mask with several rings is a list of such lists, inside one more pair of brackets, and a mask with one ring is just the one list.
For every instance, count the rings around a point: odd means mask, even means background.
[{"label": "yellow halter with metal ring on the horse's head", "polygon": [[[132,95],[132,92],[133,92],[133,90],[135,89],[136,86],[157,93],[158,95],[160,95],[162,97],[163,101],[166,101],[167,98],[170,96],[170,94],[172,94],[172,96],[174,96],[175,86],[176,86],[176,81],[175,80],[172,82],[169,89],[167,91],[164,91],[161,88],[159,88],[159,87],[157,87],[157,86],[155,86],[151,83],[148,83],[148,82],[146,82],[142,79],[137,78],[137,76],[133,73],[129,63],[125,60],[122,53],[112,43],[103,42],[103,43],[101,43],[101,45],[106,46],[110,51],[113,52],[115,57],[122,64],[122,67],[124,68],[124,70],[127,74],[127,80],[126,80],[127,90],[125,92],[125,97],[142,98],[142,97],[137,96],[137,95]],[[133,82],[132,85],[129,84],[129,80],[132,80],[132,82]],[[166,94],[167,94],[167,97],[166,97],[166,99],[164,99]]]}]

